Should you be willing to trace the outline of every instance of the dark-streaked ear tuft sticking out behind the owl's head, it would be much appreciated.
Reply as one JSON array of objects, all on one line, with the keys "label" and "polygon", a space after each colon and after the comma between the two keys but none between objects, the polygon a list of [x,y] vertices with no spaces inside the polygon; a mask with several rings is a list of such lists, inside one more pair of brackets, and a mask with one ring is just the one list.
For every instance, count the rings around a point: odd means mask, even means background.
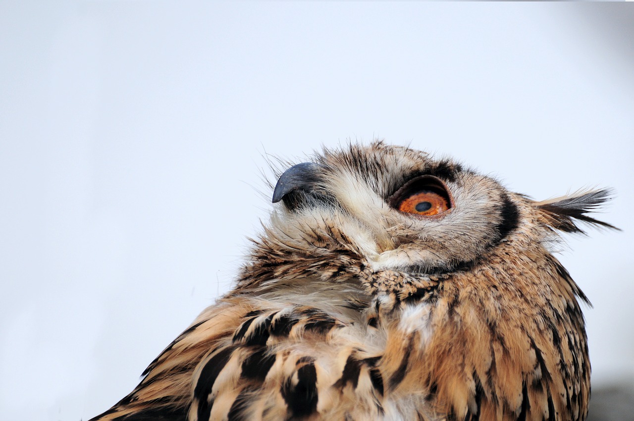
[{"label": "dark-streaked ear tuft sticking out behind the owl's head", "polygon": [[564,197],[536,202],[535,205],[541,210],[543,222],[555,230],[566,233],[584,233],[585,231],[575,224],[575,219],[590,225],[619,230],[616,226],[586,215],[589,212],[597,212],[605,202],[612,199],[612,194],[612,190],[607,188],[576,191]]}]

